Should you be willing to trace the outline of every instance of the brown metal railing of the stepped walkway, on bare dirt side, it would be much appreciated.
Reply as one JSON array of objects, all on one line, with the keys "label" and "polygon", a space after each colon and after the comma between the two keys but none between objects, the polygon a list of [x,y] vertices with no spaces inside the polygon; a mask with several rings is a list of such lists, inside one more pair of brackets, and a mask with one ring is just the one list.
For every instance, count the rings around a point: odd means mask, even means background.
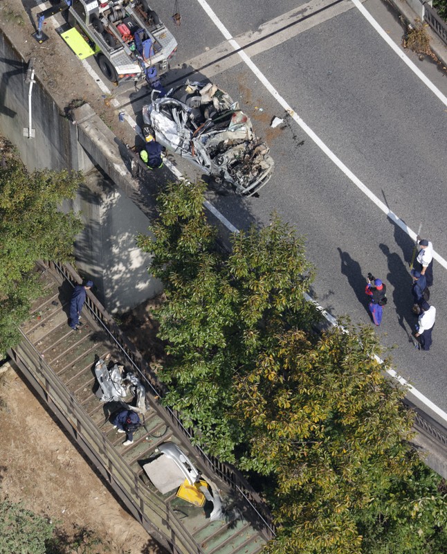
[{"label": "brown metal railing of the stepped walkway, on bare dirt side", "polygon": [[[71,425],[71,435],[80,443],[91,461],[143,527],[170,551],[179,554],[203,554],[173,510],[138,479],[131,467],[116,452],[109,440],[91,420],[73,393],[60,381],[39,352],[21,332],[21,343],[11,351],[12,359],[34,384],[57,414]],[[29,368],[32,367],[31,372]],[[62,422],[64,422],[60,418]]]}]

